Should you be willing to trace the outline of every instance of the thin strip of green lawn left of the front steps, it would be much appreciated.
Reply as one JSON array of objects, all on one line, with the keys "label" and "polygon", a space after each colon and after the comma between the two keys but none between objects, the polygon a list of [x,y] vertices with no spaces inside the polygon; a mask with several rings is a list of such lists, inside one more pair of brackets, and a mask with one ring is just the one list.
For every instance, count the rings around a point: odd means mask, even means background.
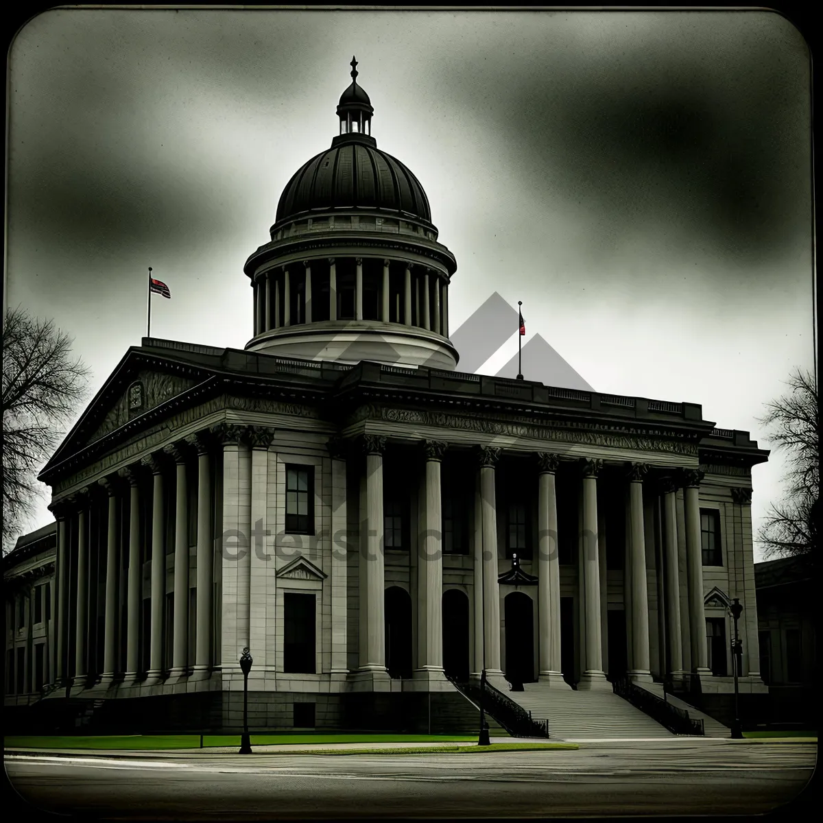
[{"label": "thin strip of green lawn left of the front steps", "polygon": [[[439,742],[473,742],[477,735],[448,734],[323,734],[294,733],[253,734],[252,746],[284,746],[295,743],[439,743]],[[163,735],[86,735],[40,736],[26,735],[4,737],[3,745],[7,749],[197,749],[200,747],[198,734],[163,734]],[[203,736],[202,745],[239,746],[239,734],[207,734]]]}]

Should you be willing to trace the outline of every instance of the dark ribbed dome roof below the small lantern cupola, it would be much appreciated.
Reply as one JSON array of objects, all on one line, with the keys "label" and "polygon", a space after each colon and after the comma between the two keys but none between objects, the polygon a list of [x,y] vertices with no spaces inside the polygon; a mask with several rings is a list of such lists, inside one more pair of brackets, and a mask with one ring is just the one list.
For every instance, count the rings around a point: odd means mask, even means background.
[{"label": "dark ribbed dome roof below the small lantern cupola", "polygon": [[407,212],[431,222],[420,181],[400,160],[380,151],[374,137],[357,133],[336,137],[330,149],[295,172],[277,204],[275,225],[305,212],[337,208]]}]

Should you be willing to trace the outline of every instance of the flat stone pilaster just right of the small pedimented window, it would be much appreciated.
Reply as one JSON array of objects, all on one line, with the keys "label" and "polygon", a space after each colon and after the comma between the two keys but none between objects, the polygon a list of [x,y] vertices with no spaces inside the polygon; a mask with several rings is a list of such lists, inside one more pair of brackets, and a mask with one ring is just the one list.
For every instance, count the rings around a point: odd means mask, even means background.
[{"label": "flat stone pilaster just right of the small pedimented window", "polygon": [[346,661],[348,647],[346,457],[348,456],[348,444],[345,440],[332,438],[326,446],[332,458],[332,680],[344,680],[349,671]]}]

